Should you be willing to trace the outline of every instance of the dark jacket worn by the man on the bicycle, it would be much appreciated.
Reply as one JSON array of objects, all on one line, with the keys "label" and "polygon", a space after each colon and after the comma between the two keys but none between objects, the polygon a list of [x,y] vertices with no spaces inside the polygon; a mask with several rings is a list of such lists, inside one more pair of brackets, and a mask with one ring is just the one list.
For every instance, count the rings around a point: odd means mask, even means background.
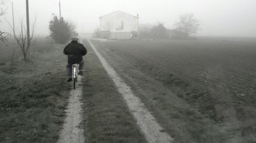
[{"label": "dark jacket worn by the man on the bicycle", "polygon": [[82,56],[86,55],[87,49],[77,41],[71,41],[63,52],[68,55],[68,63],[75,64],[82,61]]}]

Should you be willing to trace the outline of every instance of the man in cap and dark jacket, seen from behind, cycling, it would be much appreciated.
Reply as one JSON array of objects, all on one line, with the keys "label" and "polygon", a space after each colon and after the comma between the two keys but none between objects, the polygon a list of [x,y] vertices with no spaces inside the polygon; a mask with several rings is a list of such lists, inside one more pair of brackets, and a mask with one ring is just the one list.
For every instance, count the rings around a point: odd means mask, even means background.
[{"label": "man in cap and dark jacket, seen from behind, cycling", "polygon": [[72,65],[79,64],[79,73],[82,75],[84,61],[82,59],[83,55],[87,54],[87,49],[81,43],[78,43],[78,38],[71,38],[71,43],[69,43],[63,50],[65,54],[68,55],[68,64],[66,67],[66,74],[68,76],[68,82],[72,81]]}]

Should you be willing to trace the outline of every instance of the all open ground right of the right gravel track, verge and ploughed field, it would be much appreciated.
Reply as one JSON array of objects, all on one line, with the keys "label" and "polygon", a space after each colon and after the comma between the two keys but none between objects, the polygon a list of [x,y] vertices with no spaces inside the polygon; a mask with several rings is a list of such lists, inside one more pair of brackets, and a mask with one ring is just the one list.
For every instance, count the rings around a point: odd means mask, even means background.
[{"label": "all open ground right of the right gravel track, verge and ploughed field", "polygon": [[[253,142],[256,141],[256,43],[245,41],[206,38],[94,41],[94,44],[178,141]],[[188,104],[185,107],[196,111],[182,108],[183,104],[176,106],[175,97],[162,92],[165,89],[158,84],[185,101]],[[181,126],[180,137],[172,129],[178,126],[173,125],[173,118],[187,119],[180,124],[191,123]]]}]

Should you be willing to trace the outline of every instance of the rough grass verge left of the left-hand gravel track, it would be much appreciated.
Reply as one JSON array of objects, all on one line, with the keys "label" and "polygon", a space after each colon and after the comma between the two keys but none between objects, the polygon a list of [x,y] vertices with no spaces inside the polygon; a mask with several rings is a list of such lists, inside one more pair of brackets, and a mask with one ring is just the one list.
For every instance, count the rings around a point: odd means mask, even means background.
[{"label": "rough grass verge left of the left-hand gravel track", "polygon": [[63,45],[38,39],[25,63],[14,42],[7,44],[0,45],[0,142],[56,142],[69,90]]}]

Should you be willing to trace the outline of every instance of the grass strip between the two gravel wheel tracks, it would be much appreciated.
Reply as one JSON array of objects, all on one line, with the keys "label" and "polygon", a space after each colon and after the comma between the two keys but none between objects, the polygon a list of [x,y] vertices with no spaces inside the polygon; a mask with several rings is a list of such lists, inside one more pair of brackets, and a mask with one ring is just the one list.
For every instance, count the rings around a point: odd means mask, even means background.
[{"label": "grass strip between the two gravel wheel tracks", "polygon": [[90,44],[83,43],[88,49],[83,78],[86,142],[146,142]]}]

